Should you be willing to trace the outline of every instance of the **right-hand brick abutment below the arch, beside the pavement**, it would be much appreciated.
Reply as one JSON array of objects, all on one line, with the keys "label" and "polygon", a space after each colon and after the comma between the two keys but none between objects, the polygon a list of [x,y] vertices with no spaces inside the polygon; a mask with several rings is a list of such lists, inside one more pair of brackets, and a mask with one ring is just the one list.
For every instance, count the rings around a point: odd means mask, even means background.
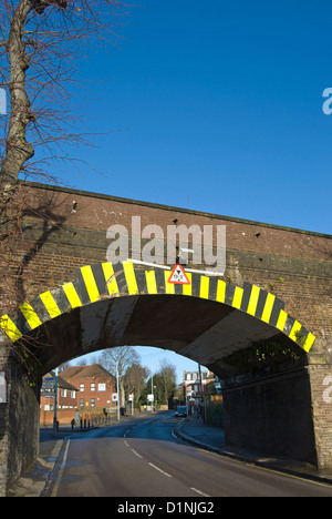
[{"label": "right-hand brick abutment below the arch, beside the pavement", "polygon": [[294,366],[259,378],[226,380],[226,444],[331,468],[332,404],[323,401],[322,385],[329,368]]}]

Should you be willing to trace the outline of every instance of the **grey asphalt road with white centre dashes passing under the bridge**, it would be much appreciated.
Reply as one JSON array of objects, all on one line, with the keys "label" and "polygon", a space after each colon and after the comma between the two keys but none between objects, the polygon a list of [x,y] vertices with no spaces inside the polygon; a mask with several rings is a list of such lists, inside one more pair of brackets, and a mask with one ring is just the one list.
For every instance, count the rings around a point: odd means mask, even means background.
[{"label": "grey asphalt road with white centre dashes passing under the bridge", "polygon": [[178,440],[174,413],[72,435],[52,497],[332,497],[332,487],[248,466]]}]

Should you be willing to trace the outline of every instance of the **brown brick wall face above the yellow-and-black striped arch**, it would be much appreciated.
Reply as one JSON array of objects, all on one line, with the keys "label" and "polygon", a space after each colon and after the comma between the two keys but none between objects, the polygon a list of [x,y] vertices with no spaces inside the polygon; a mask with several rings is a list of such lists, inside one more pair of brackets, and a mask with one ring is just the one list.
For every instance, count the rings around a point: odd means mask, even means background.
[{"label": "brown brick wall face above the yellow-and-black striped arch", "polygon": [[[106,261],[111,241],[106,231],[121,224],[132,228],[132,216],[139,215],[142,228],[159,225],[226,225],[227,269],[234,284],[245,281],[273,292],[286,302],[286,311],[317,337],[314,356],[332,357],[332,240],[331,236],[278,227],[218,215],[159,206],[105,195],[94,195],[41,186],[24,187],[27,203],[46,205],[48,225],[32,217],[25,235],[37,253],[24,267],[27,296],[37,295],[74,278],[79,266]],[[73,210],[73,202],[75,208]],[[52,210],[51,210],[52,208]],[[13,262],[17,266],[19,254]],[[326,348],[326,342],[329,348]]]}]

